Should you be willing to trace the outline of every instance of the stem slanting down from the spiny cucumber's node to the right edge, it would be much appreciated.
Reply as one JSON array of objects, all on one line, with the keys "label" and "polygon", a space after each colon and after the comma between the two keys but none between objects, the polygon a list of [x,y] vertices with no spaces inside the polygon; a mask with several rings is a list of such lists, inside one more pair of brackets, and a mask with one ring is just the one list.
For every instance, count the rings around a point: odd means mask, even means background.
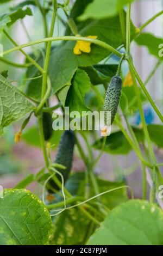
[{"label": "stem slanting down from the spiny cucumber's node to the right edge", "polygon": [[127,61],[128,61],[128,63],[129,63],[130,70],[133,72],[133,75],[136,77],[137,81],[139,82],[140,87],[142,88],[142,90],[143,90],[143,92],[145,93],[147,99],[148,99],[149,102],[151,103],[151,105],[152,105],[154,111],[156,112],[156,114],[158,115],[158,117],[160,118],[160,120],[161,120],[162,123],[163,123],[163,116],[162,116],[162,114],[160,113],[158,107],[156,107],[156,105],[155,105],[155,103],[154,103],[154,101],[153,101],[151,95],[149,95],[149,93],[148,93],[148,91],[147,91],[145,85],[143,84],[143,82],[142,82],[142,80],[141,80],[139,74],[137,74],[137,71],[136,71],[136,69],[135,69],[135,67],[134,67],[134,65],[133,65],[133,63],[132,63],[132,61],[131,61],[131,59],[127,59]]}]

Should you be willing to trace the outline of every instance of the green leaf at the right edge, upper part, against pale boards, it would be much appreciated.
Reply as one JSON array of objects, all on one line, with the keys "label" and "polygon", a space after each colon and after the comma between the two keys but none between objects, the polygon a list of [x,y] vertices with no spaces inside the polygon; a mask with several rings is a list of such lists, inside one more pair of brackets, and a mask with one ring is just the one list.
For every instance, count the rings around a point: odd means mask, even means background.
[{"label": "green leaf at the right edge, upper part, against pale boards", "polygon": [[142,33],[135,39],[135,41],[138,45],[146,46],[152,55],[161,59],[159,56],[159,45],[163,44],[162,38],[156,37],[150,33]]}]

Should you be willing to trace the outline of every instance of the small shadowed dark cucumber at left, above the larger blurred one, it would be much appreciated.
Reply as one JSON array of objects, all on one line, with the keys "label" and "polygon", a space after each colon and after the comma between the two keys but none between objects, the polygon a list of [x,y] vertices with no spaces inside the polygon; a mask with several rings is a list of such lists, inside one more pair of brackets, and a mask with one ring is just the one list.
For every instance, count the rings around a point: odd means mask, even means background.
[{"label": "small shadowed dark cucumber at left, above the larger blurred one", "polygon": [[43,135],[45,141],[48,141],[53,135],[53,119],[52,115],[48,112],[44,112],[42,114],[42,122],[43,122]]}]

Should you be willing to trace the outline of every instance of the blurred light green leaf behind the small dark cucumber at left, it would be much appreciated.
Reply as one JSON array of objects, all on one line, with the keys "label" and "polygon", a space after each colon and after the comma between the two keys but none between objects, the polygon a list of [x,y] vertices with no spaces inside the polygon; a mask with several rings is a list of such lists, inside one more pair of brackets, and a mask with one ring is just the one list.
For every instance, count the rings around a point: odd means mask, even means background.
[{"label": "blurred light green leaf behind the small dark cucumber at left", "polygon": [[[52,138],[49,139],[48,142],[50,142],[52,145],[54,144],[53,149],[56,148],[59,144],[61,134],[62,131],[54,131]],[[34,147],[41,148],[39,131],[37,130],[36,126],[31,126],[26,131],[23,131],[22,139],[26,141],[28,144],[33,145]]]}]

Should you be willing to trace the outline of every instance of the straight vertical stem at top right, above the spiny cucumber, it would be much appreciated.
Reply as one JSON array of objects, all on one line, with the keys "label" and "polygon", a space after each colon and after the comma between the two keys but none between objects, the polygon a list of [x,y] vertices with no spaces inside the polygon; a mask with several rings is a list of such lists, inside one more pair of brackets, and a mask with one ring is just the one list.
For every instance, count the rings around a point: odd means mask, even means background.
[{"label": "straight vertical stem at top right, above the spiny cucumber", "polygon": [[127,17],[126,17],[126,55],[130,53],[130,20],[131,20],[131,4],[127,5]]}]

